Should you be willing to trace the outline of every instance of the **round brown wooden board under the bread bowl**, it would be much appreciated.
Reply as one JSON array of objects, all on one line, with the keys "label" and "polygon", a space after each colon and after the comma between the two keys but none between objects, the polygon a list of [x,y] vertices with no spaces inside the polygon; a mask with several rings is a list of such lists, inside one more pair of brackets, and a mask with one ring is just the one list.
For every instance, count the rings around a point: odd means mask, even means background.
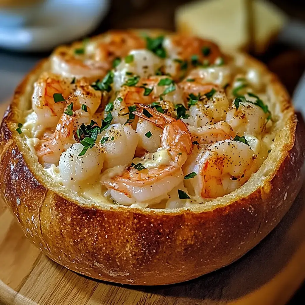
[{"label": "round brown wooden board under the bread bowl", "polygon": [[277,228],[240,260],[168,286],[111,284],[72,272],[30,244],[0,202],[0,304],[283,305],[304,278],[305,184]]}]

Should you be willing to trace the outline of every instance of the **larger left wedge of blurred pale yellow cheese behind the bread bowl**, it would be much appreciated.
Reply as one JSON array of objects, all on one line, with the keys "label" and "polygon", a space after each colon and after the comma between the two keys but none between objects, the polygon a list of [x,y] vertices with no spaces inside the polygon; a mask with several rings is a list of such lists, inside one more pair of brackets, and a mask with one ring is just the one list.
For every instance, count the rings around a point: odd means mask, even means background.
[{"label": "larger left wedge of blurred pale yellow cheese behind the bread bowl", "polygon": [[211,39],[226,50],[246,49],[249,45],[245,0],[196,1],[176,11],[177,30]]}]

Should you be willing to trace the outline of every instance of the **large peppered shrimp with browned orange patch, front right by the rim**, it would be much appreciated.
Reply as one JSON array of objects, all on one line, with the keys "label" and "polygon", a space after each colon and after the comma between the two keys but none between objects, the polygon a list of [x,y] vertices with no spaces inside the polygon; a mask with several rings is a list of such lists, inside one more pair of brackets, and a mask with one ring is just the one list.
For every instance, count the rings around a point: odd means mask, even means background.
[{"label": "large peppered shrimp with browned orange patch, front right by the rim", "polygon": [[223,140],[194,149],[185,164],[185,181],[190,193],[202,198],[221,197],[241,187],[258,169],[257,155],[247,144]]}]

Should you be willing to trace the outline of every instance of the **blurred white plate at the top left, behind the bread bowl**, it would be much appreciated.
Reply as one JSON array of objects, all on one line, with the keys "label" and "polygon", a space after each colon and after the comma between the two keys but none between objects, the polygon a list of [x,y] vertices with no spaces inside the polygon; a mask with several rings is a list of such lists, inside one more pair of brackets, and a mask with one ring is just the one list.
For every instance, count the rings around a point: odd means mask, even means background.
[{"label": "blurred white plate at the top left, behind the bread bowl", "polygon": [[106,15],[109,0],[48,0],[33,9],[30,24],[0,27],[0,47],[48,51],[90,33]]}]

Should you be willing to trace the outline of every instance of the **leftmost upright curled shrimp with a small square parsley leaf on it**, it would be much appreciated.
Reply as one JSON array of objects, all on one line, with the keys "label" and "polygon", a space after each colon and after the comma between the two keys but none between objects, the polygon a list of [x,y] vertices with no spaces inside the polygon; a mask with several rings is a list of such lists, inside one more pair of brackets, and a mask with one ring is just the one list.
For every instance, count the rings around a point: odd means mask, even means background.
[{"label": "leftmost upright curled shrimp with a small square parsley leaf on it", "polygon": [[[70,95],[70,81],[58,75],[44,72],[34,83],[32,107],[37,115],[37,125],[53,128],[59,121],[66,99]],[[56,100],[59,96],[59,101]]]}]

